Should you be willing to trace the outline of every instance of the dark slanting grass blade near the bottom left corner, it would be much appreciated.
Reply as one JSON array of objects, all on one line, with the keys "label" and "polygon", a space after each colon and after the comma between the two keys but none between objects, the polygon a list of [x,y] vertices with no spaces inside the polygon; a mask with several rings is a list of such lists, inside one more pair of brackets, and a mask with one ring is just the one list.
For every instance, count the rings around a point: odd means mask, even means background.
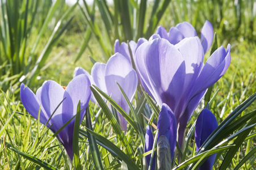
[{"label": "dark slanting grass blade near the bottom left corner", "polygon": [[26,158],[28,160],[30,160],[31,162],[45,168],[45,169],[49,169],[49,170],[57,170],[57,168],[53,167],[52,165],[48,164],[47,162],[44,162],[43,160],[41,159],[38,159],[36,158],[35,156],[31,156],[31,155],[28,155],[22,151],[19,151],[19,150],[16,150],[15,148],[11,148],[13,151],[17,152],[19,155],[22,155],[23,158]]}]

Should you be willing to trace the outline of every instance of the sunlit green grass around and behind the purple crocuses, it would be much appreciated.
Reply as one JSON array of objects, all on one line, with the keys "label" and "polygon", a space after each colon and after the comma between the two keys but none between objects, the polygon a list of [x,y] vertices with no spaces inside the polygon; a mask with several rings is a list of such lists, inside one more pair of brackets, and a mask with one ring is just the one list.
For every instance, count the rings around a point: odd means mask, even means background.
[{"label": "sunlit green grass around and behind the purple crocuses", "polygon": [[[252,9],[246,7],[253,1],[238,1],[241,5],[241,12],[236,12],[237,6],[234,6],[233,1],[225,0],[223,4],[228,5],[223,5],[223,10],[216,10],[213,15],[211,15],[213,2],[219,2],[217,6],[219,8],[222,1],[198,1],[198,3],[192,3],[191,1],[187,5],[190,8],[183,10],[182,4],[184,6],[184,2],[171,1],[159,25],[169,29],[171,26],[187,20],[194,24],[196,30],[199,31],[205,19],[208,19],[213,23],[214,30],[217,32],[219,46],[223,45],[226,48],[228,43],[232,46],[232,59],[229,69],[213,86],[211,97],[215,93],[216,97],[209,106],[220,124],[230,113],[241,106],[243,101],[256,92],[256,44],[251,36],[255,34],[255,31],[251,30],[250,25],[251,22],[255,25],[255,18],[251,17],[251,14],[253,14]],[[111,10],[113,8],[110,6]],[[35,27],[32,28],[33,31],[29,42],[35,42],[43,24],[42,21],[45,19],[43,14],[47,14],[47,12],[47,8],[41,9],[40,18],[36,20]],[[102,24],[99,11],[96,11],[95,14],[95,22],[99,25]],[[238,14],[241,15],[241,20],[239,20],[240,16]],[[79,8],[76,8],[71,15],[75,15],[72,22],[60,36],[59,41],[52,46],[51,53],[48,54],[49,56],[44,65],[40,68],[39,73],[36,74],[35,80],[31,82],[30,87],[34,92],[45,80],[49,79],[66,86],[73,78],[75,67],[83,67],[90,73],[93,63],[90,61],[89,56],[94,58],[95,61],[107,61],[99,42],[94,35],[91,35],[87,48],[85,48],[78,61],[75,62],[89,27]],[[223,18],[220,18],[220,16],[223,16]],[[56,18],[60,17],[61,14],[56,16]],[[146,19],[148,18],[149,15],[146,15]],[[228,18],[230,18],[228,24],[224,24],[224,21]],[[102,25],[100,28],[102,28]],[[40,38],[40,43],[35,51],[36,58],[40,56],[50,36],[51,33],[45,32]],[[32,46],[33,44],[28,43],[28,49],[32,48]],[[112,48],[113,46],[114,44],[112,44]],[[30,53],[26,52],[26,54]],[[209,53],[205,57],[208,58]],[[77,167],[77,169],[100,169],[102,167],[104,169],[125,169],[124,167],[126,166],[130,169],[139,169],[144,166],[143,157],[146,154],[150,154],[144,153],[142,144],[148,121],[141,114],[137,116],[136,114],[142,111],[148,118],[151,116],[152,120],[150,121],[155,124],[158,114],[152,114],[152,111],[157,112],[158,108],[153,103],[150,103],[148,96],[137,94],[136,99],[130,105],[130,114],[122,112],[122,109],[114,101],[109,101],[113,107],[130,121],[126,133],[120,130],[115,115],[108,111],[108,107],[103,101],[98,101],[102,109],[98,105],[90,103],[86,118],[79,127],[79,137],[76,134],[76,140],[78,139],[76,142],[79,149],[75,151],[79,154],[76,157],[76,160],[79,161],[72,164],[65,154],[64,147],[61,146],[56,138],[52,137],[51,130],[45,128],[44,125],[31,117],[20,103],[20,82],[18,81],[20,75],[11,74],[12,71],[8,69],[8,63],[2,62],[0,68],[1,70],[5,69],[3,72],[5,74],[1,74],[0,77],[1,84],[5,86],[0,87],[6,87],[0,93],[0,169],[69,169],[70,167]],[[95,89],[93,91],[95,94],[100,93]],[[148,102],[146,103],[146,101]],[[199,105],[192,115],[186,134],[192,129],[192,125],[203,107],[204,102]],[[232,121],[235,122],[233,124],[235,129],[232,129],[233,126],[228,126],[227,129],[233,130],[228,135],[233,134],[234,138],[232,138],[232,135],[230,139],[226,136],[225,139],[228,138],[229,141],[216,148],[215,151],[218,151],[217,158],[219,159],[216,160],[213,169],[224,168],[224,166],[228,167],[228,169],[234,169],[237,165],[240,166],[240,163],[244,164],[241,167],[237,167],[237,169],[250,169],[250,167],[256,166],[255,108],[256,103],[254,101]],[[240,122],[242,119],[245,121]],[[244,129],[242,129],[243,127]],[[241,129],[244,131],[239,133]],[[203,156],[195,157],[193,131],[191,130],[189,134],[187,150],[183,151],[183,159],[178,160],[176,158],[173,162],[174,165],[181,162],[184,162],[184,166],[193,162],[195,165]],[[219,137],[223,136],[224,134],[220,133]],[[234,144],[237,144],[237,146],[234,146]],[[211,152],[208,154],[211,154]],[[228,156],[225,158],[226,155]],[[182,164],[180,165],[180,168],[182,168]],[[177,165],[174,167],[177,167]]]}]

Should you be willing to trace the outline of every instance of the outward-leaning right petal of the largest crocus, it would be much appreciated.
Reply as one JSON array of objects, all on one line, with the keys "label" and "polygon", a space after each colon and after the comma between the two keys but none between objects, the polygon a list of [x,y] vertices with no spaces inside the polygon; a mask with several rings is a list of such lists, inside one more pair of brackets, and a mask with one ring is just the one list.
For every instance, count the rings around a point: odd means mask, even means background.
[{"label": "outward-leaning right petal of the largest crocus", "polygon": [[216,83],[228,69],[230,60],[230,44],[227,50],[223,46],[218,48],[205,63],[191,94],[199,94]]}]

